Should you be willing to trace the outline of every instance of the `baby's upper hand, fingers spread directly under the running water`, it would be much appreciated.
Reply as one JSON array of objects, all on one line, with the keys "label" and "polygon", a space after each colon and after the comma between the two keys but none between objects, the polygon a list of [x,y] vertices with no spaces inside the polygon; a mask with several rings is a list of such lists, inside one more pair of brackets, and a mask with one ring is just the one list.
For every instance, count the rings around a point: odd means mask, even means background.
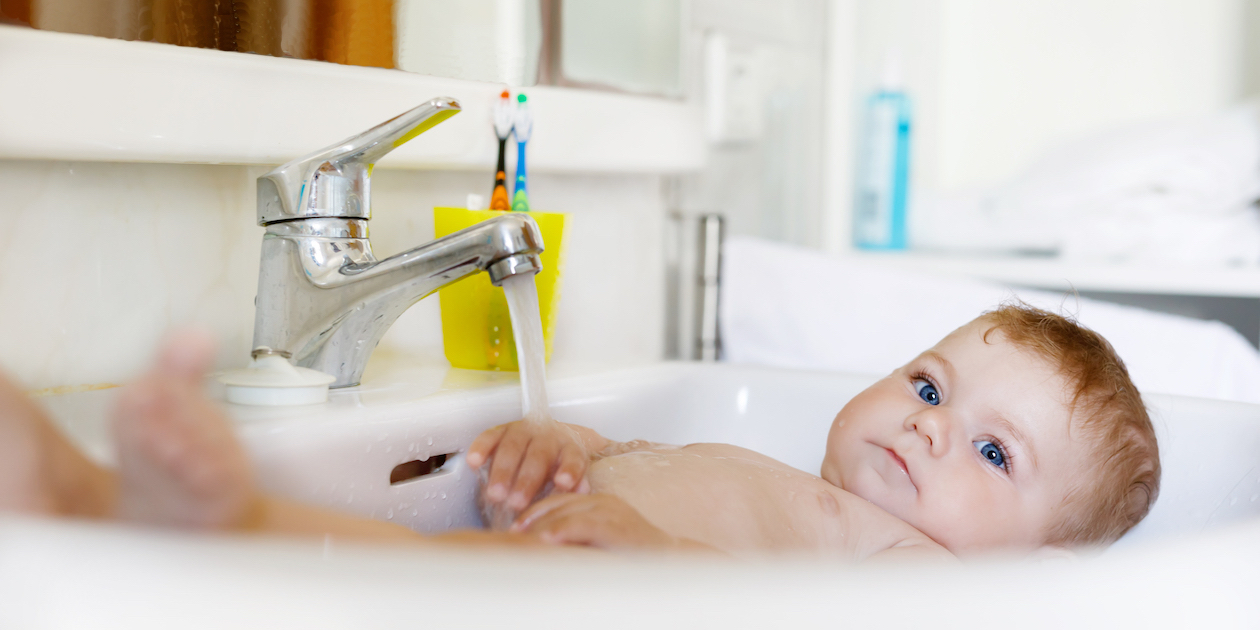
[{"label": "baby's upper hand, fingers spread directly under the running water", "polygon": [[[493,456],[493,459],[491,459]],[[581,436],[554,420],[518,420],[486,430],[469,446],[474,470],[490,461],[484,498],[512,510],[524,509],[548,478],[562,493],[588,491],[588,461]]]}]

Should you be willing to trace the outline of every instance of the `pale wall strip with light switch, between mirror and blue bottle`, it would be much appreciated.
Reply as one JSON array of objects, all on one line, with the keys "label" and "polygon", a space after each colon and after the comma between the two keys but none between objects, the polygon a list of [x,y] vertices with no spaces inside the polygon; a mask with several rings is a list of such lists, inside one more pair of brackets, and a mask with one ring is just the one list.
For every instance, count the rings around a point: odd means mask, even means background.
[{"label": "pale wall strip with light switch, between mirror and blue bottle", "polygon": [[699,44],[719,34],[751,74],[748,89],[728,94],[750,120],[736,140],[711,137],[704,169],[683,178],[679,209],[721,213],[735,234],[824,244],[825,19],[824,0],[690,3],[689,98],[712,96],[703,87]]}]

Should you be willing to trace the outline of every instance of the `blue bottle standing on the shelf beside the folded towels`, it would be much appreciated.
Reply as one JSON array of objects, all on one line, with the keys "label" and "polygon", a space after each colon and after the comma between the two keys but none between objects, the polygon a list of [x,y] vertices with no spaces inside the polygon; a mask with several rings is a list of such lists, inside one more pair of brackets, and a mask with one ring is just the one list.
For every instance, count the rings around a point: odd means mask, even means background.
[{"label": "blue bottle standing on the shelf beside the folded towels", "polygon": [[890,59],[863,111],[853,207],[853,244],[862,249],[906,248],[910,115],[910,97]]}]

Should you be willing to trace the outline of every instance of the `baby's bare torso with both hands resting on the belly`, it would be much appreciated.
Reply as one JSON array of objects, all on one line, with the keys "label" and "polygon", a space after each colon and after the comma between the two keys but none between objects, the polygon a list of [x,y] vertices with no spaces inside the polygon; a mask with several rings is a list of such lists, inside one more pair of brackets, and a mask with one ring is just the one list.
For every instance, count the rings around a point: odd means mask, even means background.
[{"label": "baby's bare torso with both hands resting on the belly", "polygon": [[[494,440],[517,431],[529,438]],[[808,553],[848,562],[892,554],[951,557],[869,501],[738,446],[612,442],[585,427],[527,421],[483,437],[470,447],[470,464],[488,461],[486,450],[494,455],[493,467],[533,460],[525,484],[518,474],[510,495],[538,491],[548,474],[573,474],[588,486],[590,496],[552,495],[520,514],[512,529],[546,542],[610,551],[707,549],[737,557]],[[504,454],[505,446],[513,450]],[[585,471],[566,467],[562,454],[575,446],[595,454]],[[493,472],[490,479],[494,483]],[[483,500],[491,500],[489,493]]]}]

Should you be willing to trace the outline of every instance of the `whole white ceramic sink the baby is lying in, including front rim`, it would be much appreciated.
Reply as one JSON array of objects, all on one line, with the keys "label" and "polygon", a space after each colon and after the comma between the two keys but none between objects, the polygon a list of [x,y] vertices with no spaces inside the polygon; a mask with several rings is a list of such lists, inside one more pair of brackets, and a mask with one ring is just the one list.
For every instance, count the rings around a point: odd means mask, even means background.
[{"label": "whole white ceramic sink the baby is lying in, including front rim", "polygon": [[[553,372],[551,399],[557,420],[590,426],[615,440],[737,444],[809,471],[818,470],[835,412],[874,381],[687,363],[595,374]],[[475,527],[476,476],[466,470],[461,452],[481,430],[519,416],[514,374],[391,368],[369,370],[364,381],[363,387],[334,392],[321,406],[228,407],[253,452],[262,484],[275,493],[392,519],[421,532]],[[108,460],[102,410],[113,396],[87,392],[44,402],[76,441]],[[0,588],[14,583],[28,591],[45,585],[55,592],[161,587],[174,601],[163,604],[163,610],[171,610],[181,624],[188,620],[178,616],[180,606],[229,595],[247,607],[242,610],[302,611],[301,619],[331,615],[331,609],[344,604],[345,610],[336,610],[358,611],[346,619],[364,624],[421,619],[415,616],[421,610],[428,621],[457,622],[471,614],[459,606],[476,606],[488,588],[491,600],[503,602],[485,611],[488,620],[508,622],[518,611],[529,610],[553,615],[546,617],[554,621],[549,626],[590,619],[556,604],[557,590],[563,588],[586,597],[578,609],[587,614],[596,614],[592,607],[597,606],[620,606],[622,615],[601,617],[610,627],[651,622],[651,607],[635,607],[644,601],[674,606],[668,610],[692,615],[682,617],[692,622],[730,617],[736,625],[762,626],[793,611],[808,611],[815,621],[878,622],[892,619],[885,614],[896,610],[895,619],[906,625],[931,620],[970,627],[984,616],[976,609],[984,601],[1045,607],[1046,614],[1032,624],[1021,619],[1017,625],[1024,626],[1082,619],[1090,621],[1086,625],[1255,621],[1246,593],[1260,590],[1260,519],[1255,518],[1260,514],[1260,406],[1167,396],[1149,396],[1148,402],[1163,455],[1160,498],[1150,517],[1114,552],[1081,563],[1000,561],[898,571],[784,559],[714,570],[701,561],[627,564],[601,559],[575,567],[572,558],[551,556],[474,558],[354,546],[330,553],[311,542],[0,519]],[[451,457],[437,471],[389,484],[399,464],[445,454]],[[1232,527],[1221,527],[1226,524]],[[129,571],[118,573],[118,563]],[[426,571],[416,571],[421,566]],[[547,576],[546,585],[536,582],[542,576]],[[238,592],[244,583],[253,591]],[[360,588],[369,583],[370,590]],[[185,585],[188,591],[173,585]],[[916,592],[914,602],[907,602],[907,592]],[[126,597],[97,596],[92,602],[82,610],[145,610]],[[422,609],[417,609],[420,602],[425,602]],[[709,615],[718,610],[719,615]],[[66,619],[71,621],[62,625],[73,626],[79,617]],[[231,612],[205,617],[220,625],[241,619],[255,617]],[[4,620],[0,611],[0,625]]]}]

